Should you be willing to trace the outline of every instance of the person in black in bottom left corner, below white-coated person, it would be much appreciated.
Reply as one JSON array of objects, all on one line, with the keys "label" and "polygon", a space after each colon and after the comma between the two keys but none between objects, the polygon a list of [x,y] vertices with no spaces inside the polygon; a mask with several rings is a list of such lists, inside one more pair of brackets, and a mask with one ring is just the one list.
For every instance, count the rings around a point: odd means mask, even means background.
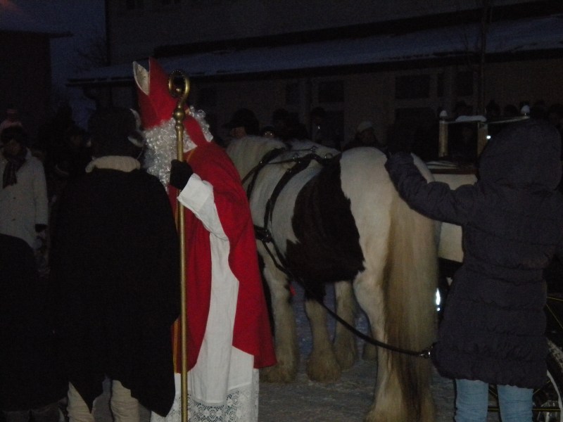
[{"label": "person in black in bottom left corner, below white-coated person", "polygon": [[0,409],[6,422],[58,422],[66,395],[53,337],[49,283],[30,245],[0,234]]}]

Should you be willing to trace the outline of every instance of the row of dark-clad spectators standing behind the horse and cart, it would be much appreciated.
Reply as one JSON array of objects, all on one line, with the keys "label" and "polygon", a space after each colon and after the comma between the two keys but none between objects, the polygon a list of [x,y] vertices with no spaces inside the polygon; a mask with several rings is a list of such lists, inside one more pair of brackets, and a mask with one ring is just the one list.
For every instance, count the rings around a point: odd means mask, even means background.
[{"label": "row of dark-clad spectators standing behind the horse and cart", "polygon": [[[559,133],[563,134],[563,103],[553,103],[550,106],[545,101],[521,101],[518,106],[506,104],[501,107],[494,100],[488,102],[483,118],[488,122],[507,120],[512,117],[523,115],[522,110],[528,107],[530,117],[546,120],[553,124]],[[327,112],[322,107],[315,107],[310,111],[308,126],[298,120],[296,113],[290,113],[284,108],[278,108],[272,113],[270,122],[260,125],[258,118],[249,108],[241,108],[232,116],[232,120],[223,125],[229,130],[229,139],[236,139],[245,135],[260,135],[290,141],[291,139],[308,139],[321,143],[339,151],[346,151],[358,146],[372,146],[379,148],[386,153],[390,148],[393,150],[411,151],[424,161],[438,159],[438,122],[442,118],[442,108],[436,110],[434,120],[419,124],[417,127],[405,125],[404,122],[396,122],[387,128],[377,127],[372,120],[361,120],[355,127],[352,139],[345,140],[335,129],[333,122],[327,117]],[[463,117],[472,116],[473,108],[464,101],[455,104],[452,113],[446,115],[447,120],[456,121]],[[238,124],[242,129],[233,130],[234,125]],[[476,129],[471,124],[459,124],[459,127],[452,128],[453,138],[457,136],[460,146],[458,151],[455,148],[450,151],[451,155],[445,157],[455,162],[476,160]],[[502,124],[496,127],[490,125],[491,133],[500,130]],[[383,132],[385,136],[378,137],[376,132]],[[472,142],[464,140],[471,139]],[[229,139],[222,142],[226,145]],[[464,150],[465,148],[465,150]],[[562,157],[563,160],[563,157]]]}]

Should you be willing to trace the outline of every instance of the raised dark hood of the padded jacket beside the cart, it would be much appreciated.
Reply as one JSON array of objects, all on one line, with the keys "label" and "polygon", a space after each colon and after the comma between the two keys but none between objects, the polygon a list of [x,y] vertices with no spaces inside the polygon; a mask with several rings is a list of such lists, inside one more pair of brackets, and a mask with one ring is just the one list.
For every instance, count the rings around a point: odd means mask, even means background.
[{"label": "raised dark hood of the padded jacket beside the cart", "polygon": [[561,137],[548,122],[510,124],[488,142],[479,159],[482,181],[554,190],[561,180]]}]

